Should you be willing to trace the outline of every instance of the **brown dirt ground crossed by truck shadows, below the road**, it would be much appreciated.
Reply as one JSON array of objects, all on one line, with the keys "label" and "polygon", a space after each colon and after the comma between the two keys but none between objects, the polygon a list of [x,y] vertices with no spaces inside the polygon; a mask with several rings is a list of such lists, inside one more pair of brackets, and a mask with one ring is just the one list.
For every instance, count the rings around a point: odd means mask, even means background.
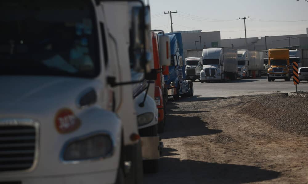
[{"label": "brown dirt ground crossed by truck shadows, below the road", "polygon": [[[168,102],[160,171],[146,174],[144,183],[307,184],[308,137],[248,115],[261,98],[275,97],[191,97]],[[266,111],[262,116],[270,116]]]}]

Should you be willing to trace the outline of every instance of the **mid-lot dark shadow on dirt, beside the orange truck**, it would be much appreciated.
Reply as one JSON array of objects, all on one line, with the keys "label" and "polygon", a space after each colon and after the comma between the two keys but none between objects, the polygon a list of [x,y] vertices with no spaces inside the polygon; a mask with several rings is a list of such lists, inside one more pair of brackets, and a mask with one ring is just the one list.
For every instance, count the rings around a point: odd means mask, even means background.
[{"label": "mid-lot dark shadow on dirt, beside the orange truck", "polygon": [[175,137],[202,136],[221,133],[222,130],[209,129],[208,123],[195,116],[167,115],[165,131],[160,134],[163,139]]}]

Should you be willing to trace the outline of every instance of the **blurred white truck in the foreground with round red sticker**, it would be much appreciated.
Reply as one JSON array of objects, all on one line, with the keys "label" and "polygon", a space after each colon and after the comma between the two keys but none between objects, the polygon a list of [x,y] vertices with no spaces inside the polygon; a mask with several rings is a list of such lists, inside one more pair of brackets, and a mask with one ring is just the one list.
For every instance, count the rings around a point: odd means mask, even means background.
[{"label": "blurred white truck in the foreground with round red sticker", "polygon": [[2,2],[0,183],[143,183],[130,85],[149,68],[140,3],[131,16],[128,1]]}]

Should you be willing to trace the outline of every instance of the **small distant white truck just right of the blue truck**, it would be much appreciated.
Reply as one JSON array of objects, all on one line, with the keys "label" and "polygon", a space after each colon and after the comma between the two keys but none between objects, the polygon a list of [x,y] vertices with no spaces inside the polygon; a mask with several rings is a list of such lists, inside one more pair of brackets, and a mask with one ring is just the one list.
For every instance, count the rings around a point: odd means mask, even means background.
[{"label": "small distant white truck just right of the blue truck", "polygon": [[195,82],[200,80],[200,73],[203,70],[202,57],[189,57],[185,59],[186,78]]}]

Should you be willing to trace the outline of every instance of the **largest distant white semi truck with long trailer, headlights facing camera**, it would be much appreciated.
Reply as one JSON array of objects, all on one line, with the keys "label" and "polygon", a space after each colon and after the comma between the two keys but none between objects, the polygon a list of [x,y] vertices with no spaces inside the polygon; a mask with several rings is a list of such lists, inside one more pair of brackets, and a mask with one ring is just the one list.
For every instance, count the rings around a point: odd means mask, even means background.
[{"label": "largest distant white semi truck with long trailer, headlights facing camera", "polygon": [[229,48],[205,48],[202,53],[201,83],[225,81],[237,77],[237,50]]}]

